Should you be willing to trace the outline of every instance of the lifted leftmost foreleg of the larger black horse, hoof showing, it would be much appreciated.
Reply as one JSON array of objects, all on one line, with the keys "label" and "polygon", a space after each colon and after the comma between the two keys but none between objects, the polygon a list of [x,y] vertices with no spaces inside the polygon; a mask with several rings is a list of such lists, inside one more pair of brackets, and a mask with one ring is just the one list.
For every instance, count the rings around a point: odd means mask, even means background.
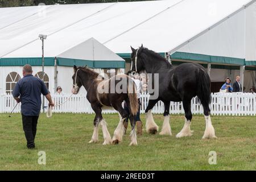
[{"label": "lifted leftmost foreleg of the larger black horse, hoof showing", "polygon": [[145,110],[146,113],[146,131],[150,134],[156,134],[158,132],[158,125],[156,125],[153,115],[151,113],[151,109],[158,102],[158,100],[149,100],[147,108]]}]

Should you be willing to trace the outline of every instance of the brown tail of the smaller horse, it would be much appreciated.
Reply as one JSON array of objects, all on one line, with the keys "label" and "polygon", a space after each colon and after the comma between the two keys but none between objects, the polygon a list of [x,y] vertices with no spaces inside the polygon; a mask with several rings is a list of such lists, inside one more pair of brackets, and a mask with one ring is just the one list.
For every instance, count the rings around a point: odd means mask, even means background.
[{"label": "brown tail of the smaller horse", "polygon": [[129,78],[127,86],[127,94],[130,101],[131,114],[136,115],[139,109],[138,98],[137,98],[137,89],[135,82]]}]

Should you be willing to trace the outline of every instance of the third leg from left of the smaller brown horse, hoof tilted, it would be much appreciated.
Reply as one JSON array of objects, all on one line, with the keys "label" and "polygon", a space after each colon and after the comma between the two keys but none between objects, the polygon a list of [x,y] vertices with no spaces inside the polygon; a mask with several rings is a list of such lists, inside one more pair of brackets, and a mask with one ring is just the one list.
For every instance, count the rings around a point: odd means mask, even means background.
[{"label": "third leg from left of the smaller brown horse, hoof tilted", "polygon": [[118,142],[122,142],[123,135],[125,134],[125,127],[123,126],[123,122],[128,117],[128,113],[125,109],[123,109],[122,104],[116,104],[112,105],[115,110],[117,110],[119,113],[119,123],[117,128],[114,131],[114,136],[112,139],[113,144],[118,144]]}]

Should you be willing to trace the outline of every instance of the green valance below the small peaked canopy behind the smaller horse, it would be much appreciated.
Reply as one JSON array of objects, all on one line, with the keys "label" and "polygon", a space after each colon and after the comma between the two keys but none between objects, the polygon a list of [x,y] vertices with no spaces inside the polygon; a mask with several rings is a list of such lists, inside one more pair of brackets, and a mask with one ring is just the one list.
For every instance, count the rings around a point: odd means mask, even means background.
[{"label": "green valance below the small peaked canopy behind the smaller horse", "polygon": [[125,61],[92,61],[58,57],[57,65],[68,67],[73,67],[73,65],[79,67],[87,65],[90,68],[125,68]]}]

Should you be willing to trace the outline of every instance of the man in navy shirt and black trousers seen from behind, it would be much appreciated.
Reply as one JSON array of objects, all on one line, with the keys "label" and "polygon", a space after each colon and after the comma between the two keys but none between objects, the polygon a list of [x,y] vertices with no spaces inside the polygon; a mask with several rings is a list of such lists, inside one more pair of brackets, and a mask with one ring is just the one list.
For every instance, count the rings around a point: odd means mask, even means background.
[{"label": "man in navy shirt and black trousers seen from behind", "polygon": [[36,126],[42,104],[41,93],[46,96],[49,106],[54,106],[54,103],[44,82],[32,75],[31,65],[24,65],[22,72],[23,78],[15,85],[13,97],[22,104],[22,124],[27,139],[27,148],[35,148]]}]

